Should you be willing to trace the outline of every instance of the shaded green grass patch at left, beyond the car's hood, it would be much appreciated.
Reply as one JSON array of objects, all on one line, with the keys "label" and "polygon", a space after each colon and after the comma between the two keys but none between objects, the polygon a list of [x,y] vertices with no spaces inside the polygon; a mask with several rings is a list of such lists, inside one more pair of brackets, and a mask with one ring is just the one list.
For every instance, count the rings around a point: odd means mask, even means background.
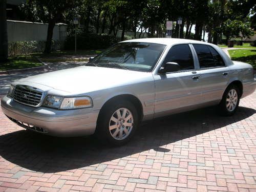
[{"label": "shaded green grass patch at left, beyond the car's hood", "polygon": [[0,63],[0,71],[12,70],[12,69],[24,69],[31,67],[42,66],[33,56],[15,56],[9,57],[6,62]]}]

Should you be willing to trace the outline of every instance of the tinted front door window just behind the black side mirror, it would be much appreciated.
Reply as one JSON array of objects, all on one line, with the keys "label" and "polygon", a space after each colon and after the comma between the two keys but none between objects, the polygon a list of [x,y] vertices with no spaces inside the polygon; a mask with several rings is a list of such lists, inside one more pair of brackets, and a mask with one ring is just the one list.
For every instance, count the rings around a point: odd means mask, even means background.
[{"label": "tinted front door window just behind the black side mirror", "polygon": [[186,44],[176,45],[170,48],[164,59],[166,62],[177,62],[180,65],[180,70],[194,69],[193,55],[190,48]]}]

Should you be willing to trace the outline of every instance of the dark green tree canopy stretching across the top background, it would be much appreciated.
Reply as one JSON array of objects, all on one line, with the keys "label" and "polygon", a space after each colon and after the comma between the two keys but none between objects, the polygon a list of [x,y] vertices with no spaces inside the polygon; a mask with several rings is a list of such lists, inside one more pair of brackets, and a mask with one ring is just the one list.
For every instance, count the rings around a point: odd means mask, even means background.
[{"label": "dark green tree canopy stretching across the top background", "polygon": [[[208,32],[209,42],[220,42],[221,36],[246,37],[255,28],[253,0],[28,0],[21,6],[26,20],[32,22],[68,24],[74,33],[73,17],[79,17],[78,33],[105,33],[117,36],[125,32],[148,32],[149,37],[164,37],[166,20],[177,21],[181,16],[181,38],[201,39]],[[195,26],[195,34],[189,28]],[[185,28],[186,27],[186,28]],[[194,28],[194,27],[193,27]],[[103,30],[102,30],[103,29]],[[173,37],[178,36],[178,25],[173,26]],[[79,32],[80,31],[80,32]],[[70,35],[72,36],[72,35]],[[142,37],[142,35],[141,35]],[[134,37],[132,37],[134,38]],[[48,44],[49,45],[49,44]],[[48,46],[47,46],[48,47]]]}]

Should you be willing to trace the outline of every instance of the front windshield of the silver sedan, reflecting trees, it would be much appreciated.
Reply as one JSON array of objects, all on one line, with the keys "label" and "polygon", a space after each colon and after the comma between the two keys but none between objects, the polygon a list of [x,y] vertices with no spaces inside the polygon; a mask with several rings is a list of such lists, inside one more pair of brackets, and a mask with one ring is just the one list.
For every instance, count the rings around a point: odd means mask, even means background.
[{"label": "front windshield of the silver sedan, reflecting trees", "polygon": [[87,65],[150,72],[165,45],[148,42],[120,42],[92,59]]}]

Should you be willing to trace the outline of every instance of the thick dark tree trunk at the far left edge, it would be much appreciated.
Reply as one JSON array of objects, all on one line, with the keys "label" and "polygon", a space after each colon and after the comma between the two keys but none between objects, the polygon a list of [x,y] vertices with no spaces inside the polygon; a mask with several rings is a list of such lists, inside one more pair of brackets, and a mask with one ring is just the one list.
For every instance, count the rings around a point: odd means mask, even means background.
[{"label": "thick dark tree trunk at the far left edge", "polygon": [[6,0],[0,2],[0,61],[8,58],[8,35],[6,21]]}]

